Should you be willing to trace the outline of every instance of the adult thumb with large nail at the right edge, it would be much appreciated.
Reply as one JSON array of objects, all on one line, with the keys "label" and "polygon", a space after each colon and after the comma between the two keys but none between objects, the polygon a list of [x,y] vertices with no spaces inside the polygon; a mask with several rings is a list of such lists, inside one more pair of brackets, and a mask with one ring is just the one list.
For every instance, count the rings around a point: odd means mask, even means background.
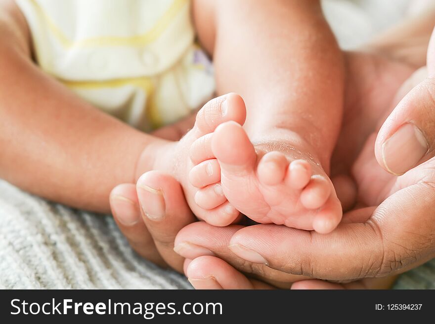
[{"label": "adult thumb with large nail at the right edge", "polygon": [[395,175],[435,156],[435,33],[427,64],[428,77],[399,102],[376,139],[378,163]]}]

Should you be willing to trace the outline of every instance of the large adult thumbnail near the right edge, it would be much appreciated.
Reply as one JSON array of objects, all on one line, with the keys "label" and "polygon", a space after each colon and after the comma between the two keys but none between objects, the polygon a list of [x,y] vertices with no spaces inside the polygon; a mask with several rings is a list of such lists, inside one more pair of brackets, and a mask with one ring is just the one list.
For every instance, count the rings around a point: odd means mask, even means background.
[{"label": "large adult thumbnail near the right edge", "polygon": [[426,155],[429,144],[414,124],[402,125],[382,145],[384,166],[394,175],[402,175]]}]

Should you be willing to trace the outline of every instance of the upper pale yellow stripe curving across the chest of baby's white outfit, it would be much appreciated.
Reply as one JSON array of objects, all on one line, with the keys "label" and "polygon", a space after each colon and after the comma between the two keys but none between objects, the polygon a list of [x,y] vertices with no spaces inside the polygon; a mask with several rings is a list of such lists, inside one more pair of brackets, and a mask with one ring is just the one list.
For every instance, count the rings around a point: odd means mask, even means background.
[{"label": "upper pale yellow stripe curving across the chest of baby's white outfit", "polygon": [[156,40],[174,20],[174,17],[183,6],[189,3],[189,0],[174,0],[169,9],[158,20],[154,27],[145,34],[137,36],[101,36],[81,40],[70,40],[56,26],[53,20],[44,12],[43,8],[35,1],[30,0],[37,11],[44,17],[49,30],[66,48],[80,48],[88,46],[144,46]]}]

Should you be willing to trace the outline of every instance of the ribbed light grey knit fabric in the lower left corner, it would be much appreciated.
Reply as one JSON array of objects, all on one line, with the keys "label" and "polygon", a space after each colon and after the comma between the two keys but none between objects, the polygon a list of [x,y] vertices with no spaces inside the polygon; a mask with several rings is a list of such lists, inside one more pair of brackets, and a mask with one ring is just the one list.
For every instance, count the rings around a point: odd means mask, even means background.
[{"label": "ribbed light grey knit fabric in the lower left corner", "polygon": [[48,203],[0,180],[0,288],[191,288],[130,248],[111,216]]}]

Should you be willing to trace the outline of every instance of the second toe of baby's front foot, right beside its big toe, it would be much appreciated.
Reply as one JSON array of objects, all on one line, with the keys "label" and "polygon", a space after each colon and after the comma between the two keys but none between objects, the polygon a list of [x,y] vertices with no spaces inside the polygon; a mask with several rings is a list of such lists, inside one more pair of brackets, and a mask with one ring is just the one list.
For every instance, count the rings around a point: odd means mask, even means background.
[{"label": "second toe of baby's front foot, right beside its big toe", "polygon": [[266,185],[276,185],[284,180],[289,162],[280,152],[266,153],[257,167],[259,180]]}]

